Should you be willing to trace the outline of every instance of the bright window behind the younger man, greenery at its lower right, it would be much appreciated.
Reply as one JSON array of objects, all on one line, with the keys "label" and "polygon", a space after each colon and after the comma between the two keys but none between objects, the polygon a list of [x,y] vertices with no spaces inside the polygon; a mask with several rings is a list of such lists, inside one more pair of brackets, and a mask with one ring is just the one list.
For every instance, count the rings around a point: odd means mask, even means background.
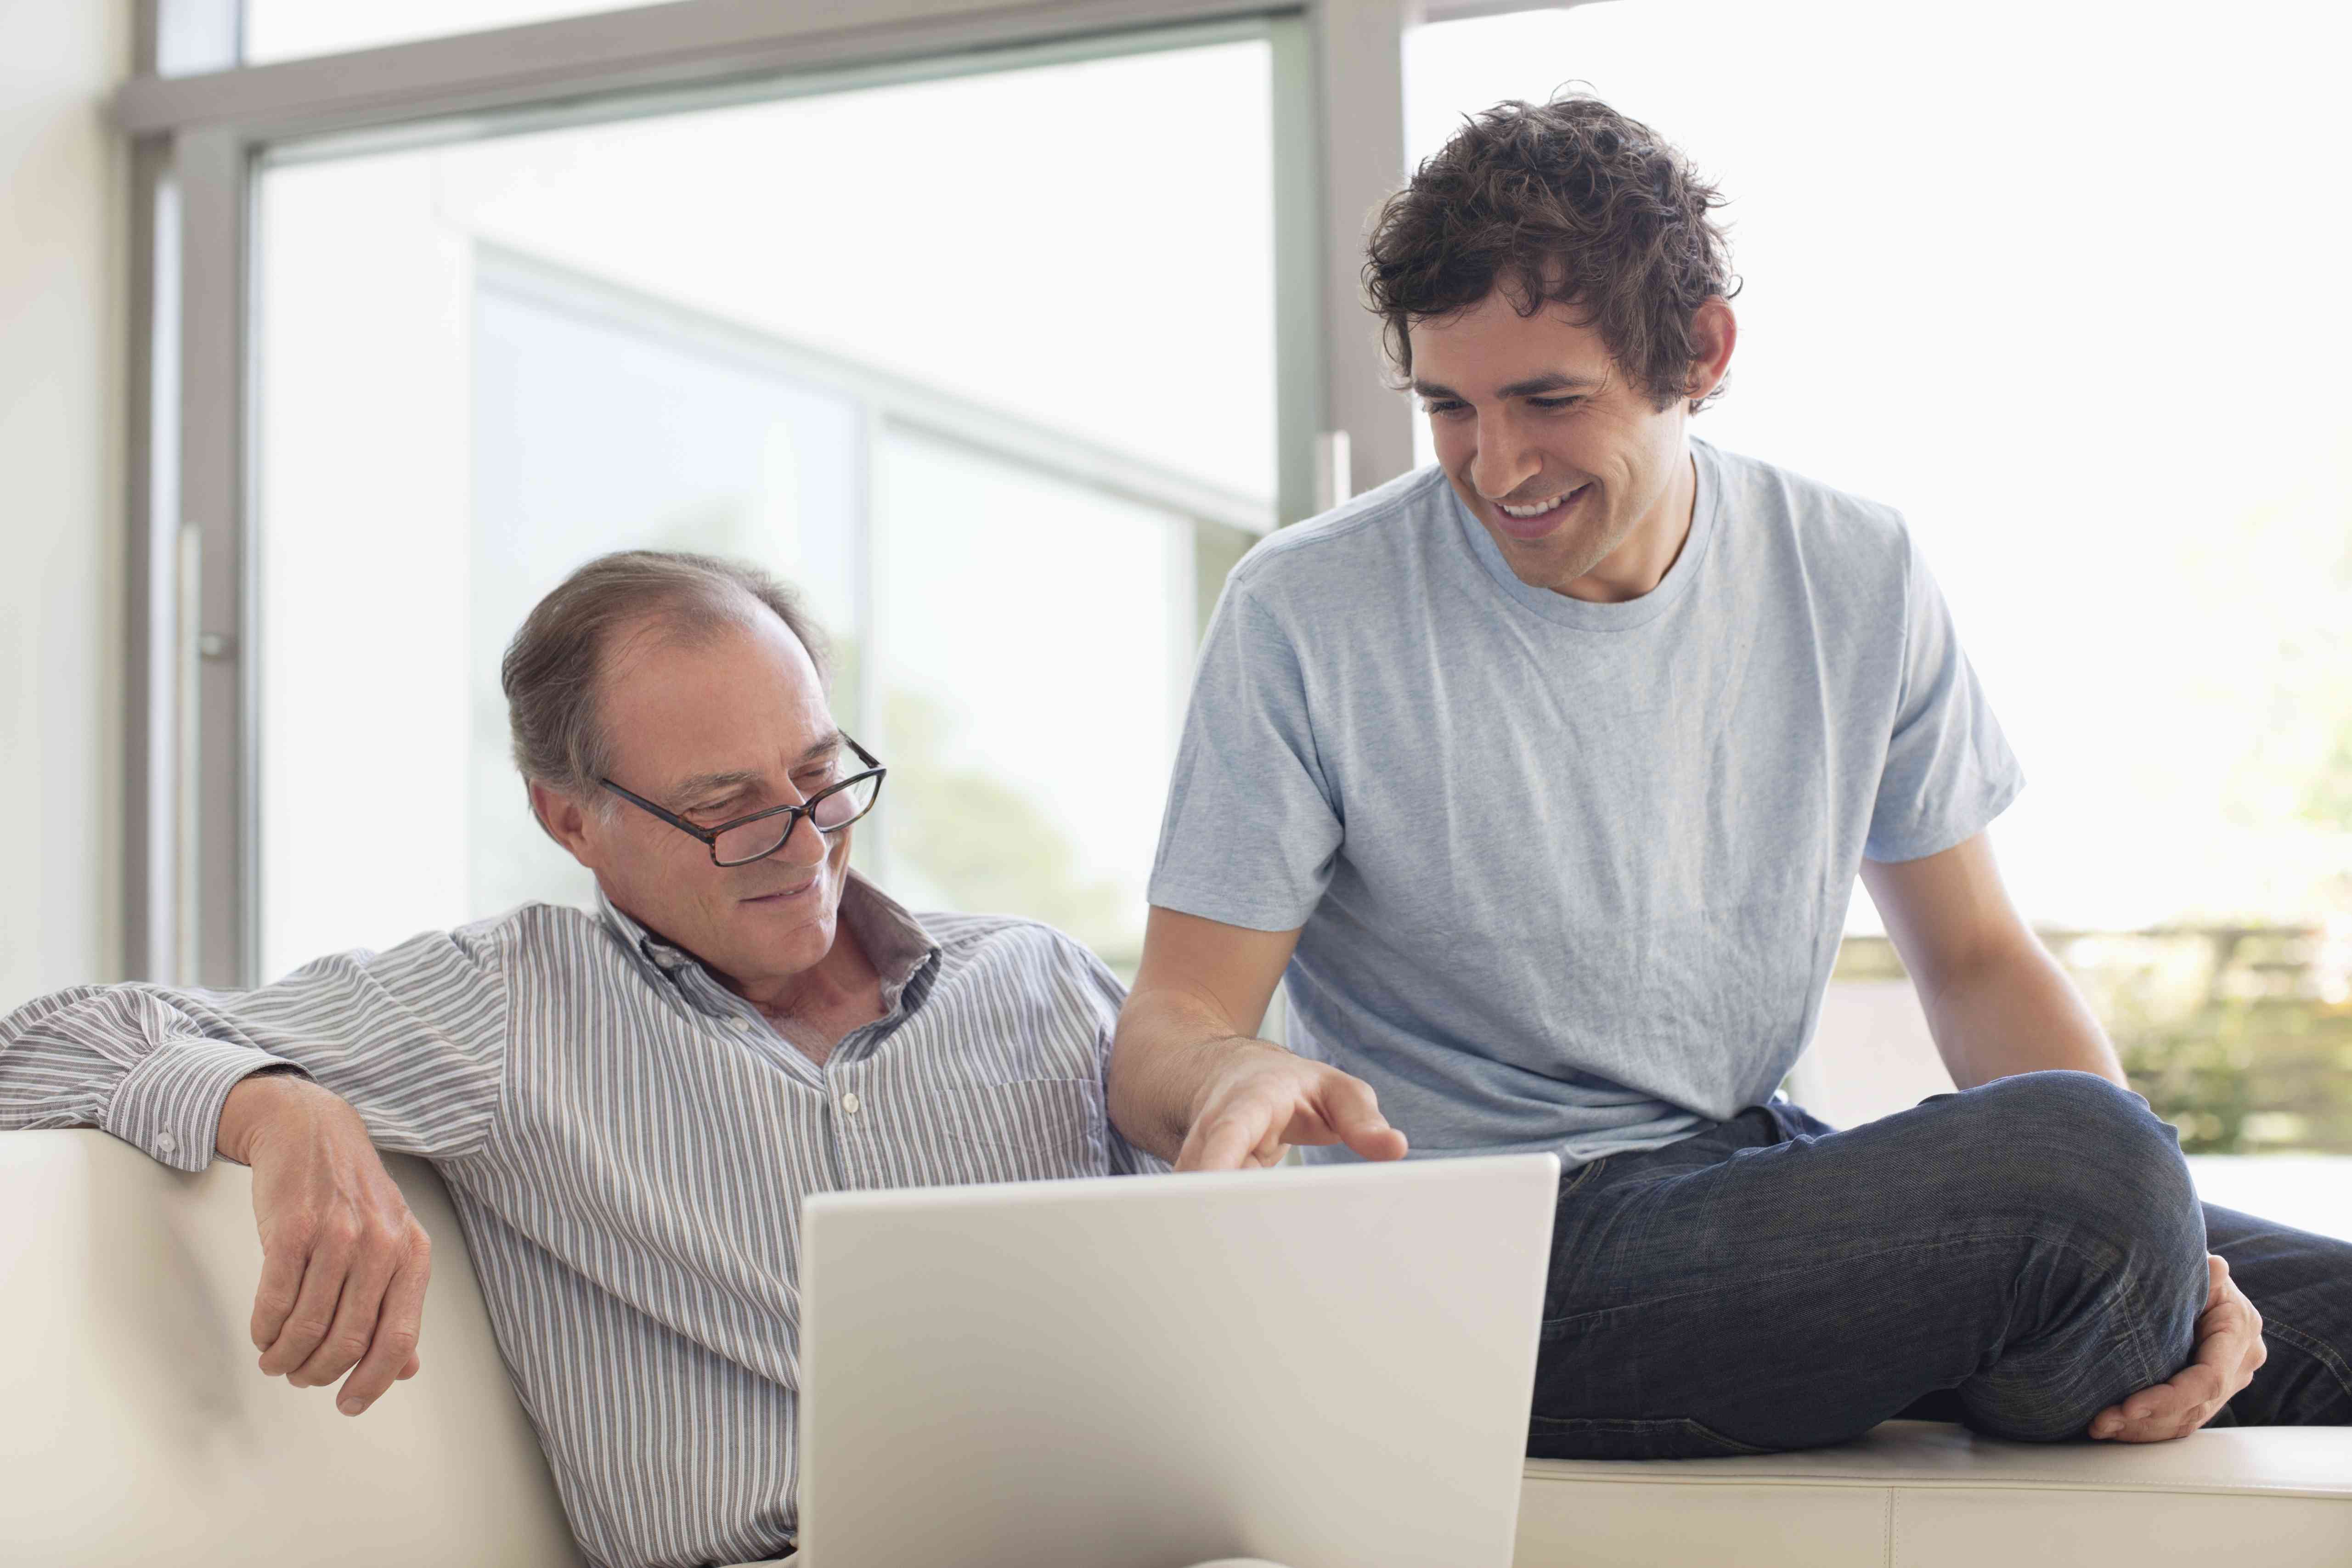
[{"label": "bright window behind the younger man, greenery at its lower right", "polygon": [[[2192,1150],[2352,1152],[2324,21],[1623,0],[1409,42],[1414,155],[1581,82],[1731,197],[1740,346],[1693,428],[1903,508],[2030,776],[2009,884]],[[1846,1067],[1905,1032],[1865,997],[1903,983],[1860,896],[1851,931]]]}]

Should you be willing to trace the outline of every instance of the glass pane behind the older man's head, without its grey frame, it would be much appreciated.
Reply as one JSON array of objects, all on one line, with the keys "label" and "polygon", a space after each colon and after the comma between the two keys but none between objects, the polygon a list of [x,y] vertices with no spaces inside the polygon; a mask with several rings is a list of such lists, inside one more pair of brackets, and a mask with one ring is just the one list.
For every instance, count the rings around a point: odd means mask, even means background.
[{"label": "glass pane behind the older man's head, without its grey frame", "polygon": [[256,212],[266,976],[590,893],[496,668],[635,545],[809,595],[901,898],[1134,961],[1200,609],[1275,522],[1265,38],[294,148]]}]

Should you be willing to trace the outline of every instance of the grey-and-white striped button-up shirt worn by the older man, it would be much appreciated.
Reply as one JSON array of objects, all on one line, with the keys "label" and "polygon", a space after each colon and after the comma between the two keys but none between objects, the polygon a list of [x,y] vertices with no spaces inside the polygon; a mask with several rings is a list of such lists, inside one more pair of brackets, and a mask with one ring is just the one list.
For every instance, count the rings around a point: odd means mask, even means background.
[{"label": "grey-and-white striped button-up shirt worn by the older man", "polygon": [[80,987],[0,1020],[0,1126],[101,1126],[198,1171],[285,1063],[447,1180],[572,1533],[604,1566],[795,1533],[800,1201],[1164,1168],[1103,1114],[1120,983],[1033,922],[851,877],[884,1016],[818,1067],[609,903],[524,905],[252,992]]}]

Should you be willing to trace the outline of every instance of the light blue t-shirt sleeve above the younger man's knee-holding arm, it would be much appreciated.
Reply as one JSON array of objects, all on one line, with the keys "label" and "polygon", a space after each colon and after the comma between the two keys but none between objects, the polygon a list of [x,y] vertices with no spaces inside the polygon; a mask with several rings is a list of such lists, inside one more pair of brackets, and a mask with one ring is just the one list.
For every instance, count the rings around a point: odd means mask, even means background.
[{"label": "light blue t-shirt sleeve above the younger man's knee-holding arm", "polygon": [[2025,788],[2009,741],[1952,630],[1943,590],[1907,543],[1903,689],[1863,853],[1917,860],[1964,844]]}]

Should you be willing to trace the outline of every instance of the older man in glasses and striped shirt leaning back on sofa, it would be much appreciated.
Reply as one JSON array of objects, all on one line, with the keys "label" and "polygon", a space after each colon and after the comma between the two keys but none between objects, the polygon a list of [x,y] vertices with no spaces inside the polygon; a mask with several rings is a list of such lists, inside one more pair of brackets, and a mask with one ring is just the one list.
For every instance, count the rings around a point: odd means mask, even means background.
[{"label": "older man in glasses and striped shirt leaning back on sofa", "polygon": [[1145,1166],[1103,1119],[1117,980],[849,870],[884,769],[821,658],[757,571],[590,562],[503,677],[595,914],[524,905],[254,992],[42,997],[0,1023],[0,1128],[249,1164],[261,1371],[341,1378],[350,1415],[416,1371],[430,1262],[376,1147],[423,1154],[588,1556],[786,1552],[800,1199]]}]

